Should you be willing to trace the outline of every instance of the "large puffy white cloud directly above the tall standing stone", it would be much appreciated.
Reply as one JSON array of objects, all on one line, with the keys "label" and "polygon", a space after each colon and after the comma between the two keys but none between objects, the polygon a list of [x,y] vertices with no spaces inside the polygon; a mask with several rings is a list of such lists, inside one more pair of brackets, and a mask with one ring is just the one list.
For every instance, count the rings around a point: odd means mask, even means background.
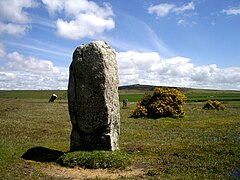
[{"label": "large puffy white cloud directly above the tall standing stone", "polygon": [[115,27],[109,4],[103,7],[87,0],[42,0],[50,15],[64,14],[56,21],[57,34],[66,39],[92,38]]}]

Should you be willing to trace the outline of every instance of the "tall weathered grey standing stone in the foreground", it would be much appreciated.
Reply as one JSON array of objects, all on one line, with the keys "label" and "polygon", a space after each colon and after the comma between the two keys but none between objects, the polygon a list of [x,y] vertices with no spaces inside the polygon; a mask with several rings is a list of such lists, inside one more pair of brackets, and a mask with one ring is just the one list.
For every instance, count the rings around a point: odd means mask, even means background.
[{"label": "tall weathered grey standing stone in the foreground", "polygon": [[118,149],[118,69],[115,52],[107,43],[94,41],[74,51],[68,107],[71,151]]}]

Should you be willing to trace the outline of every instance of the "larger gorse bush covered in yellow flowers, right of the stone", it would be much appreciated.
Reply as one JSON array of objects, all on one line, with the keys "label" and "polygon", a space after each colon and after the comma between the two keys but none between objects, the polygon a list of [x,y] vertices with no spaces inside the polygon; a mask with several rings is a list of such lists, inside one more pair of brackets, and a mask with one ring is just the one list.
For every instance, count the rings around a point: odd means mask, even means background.
[{"label": "larger gorse bush covered in yellow flowers, right of the stone", "polygon": [[186,96],[177,89],[156,88],[153,95],[146,94],[131,114],[133,118],[182,117]]}]

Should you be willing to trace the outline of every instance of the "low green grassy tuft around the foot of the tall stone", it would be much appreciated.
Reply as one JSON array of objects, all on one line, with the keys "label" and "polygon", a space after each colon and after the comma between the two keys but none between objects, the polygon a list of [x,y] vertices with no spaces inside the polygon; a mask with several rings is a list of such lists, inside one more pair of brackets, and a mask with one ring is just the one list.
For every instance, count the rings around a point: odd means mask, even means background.
[{"label": "low green grassy tuft around the foot of the tall stone", "polygon": [[125,169],[130,165],[129,155],[122,151],[75,151],[62,155],[58,160],[62,166],[97,169]]}]

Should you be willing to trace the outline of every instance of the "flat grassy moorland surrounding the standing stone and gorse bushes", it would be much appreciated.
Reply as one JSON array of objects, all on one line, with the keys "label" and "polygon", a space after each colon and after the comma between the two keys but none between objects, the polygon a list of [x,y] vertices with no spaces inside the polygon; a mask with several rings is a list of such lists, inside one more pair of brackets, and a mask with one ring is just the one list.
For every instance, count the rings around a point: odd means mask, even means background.
[{"label": "flat grassy moorland surrounding the standing stone and gorse bushes", "polygon": [[[129,95],[124,91],[120,91],[120,98]],[[56,91],[0,91],[0,179],[71,179],[71,174],[66,175],[68,171],[60,170],[55,163],[69,150],[67,100],[48,103],[52,93]],[[65,92],[57,93],[64,97]],[[190,93],[192,97],[194,93]],[[210,99],[219,94],[237,94],[217,93],[198,91],[196,96],[199,100],[199,94]],[[139,94],[143,95],[142,90]],[[134,98],[137,101],[139,97]],[[203,110],[203,105],[187,102],[186,116],[180,119],[132,119],[129,116],[134,105],[121,109],[120,149],[132,161],[124,171],[141,170],[131,179],[240,178],[240,101],[226,101],[223,111]],[[21,158],[29,150],[33,160]],[[61,177],[59,172],[66,176]],[[99,177],[104,176],[98,174],[94,179]],[[117,178],[124,177],[129,178]]]}]

